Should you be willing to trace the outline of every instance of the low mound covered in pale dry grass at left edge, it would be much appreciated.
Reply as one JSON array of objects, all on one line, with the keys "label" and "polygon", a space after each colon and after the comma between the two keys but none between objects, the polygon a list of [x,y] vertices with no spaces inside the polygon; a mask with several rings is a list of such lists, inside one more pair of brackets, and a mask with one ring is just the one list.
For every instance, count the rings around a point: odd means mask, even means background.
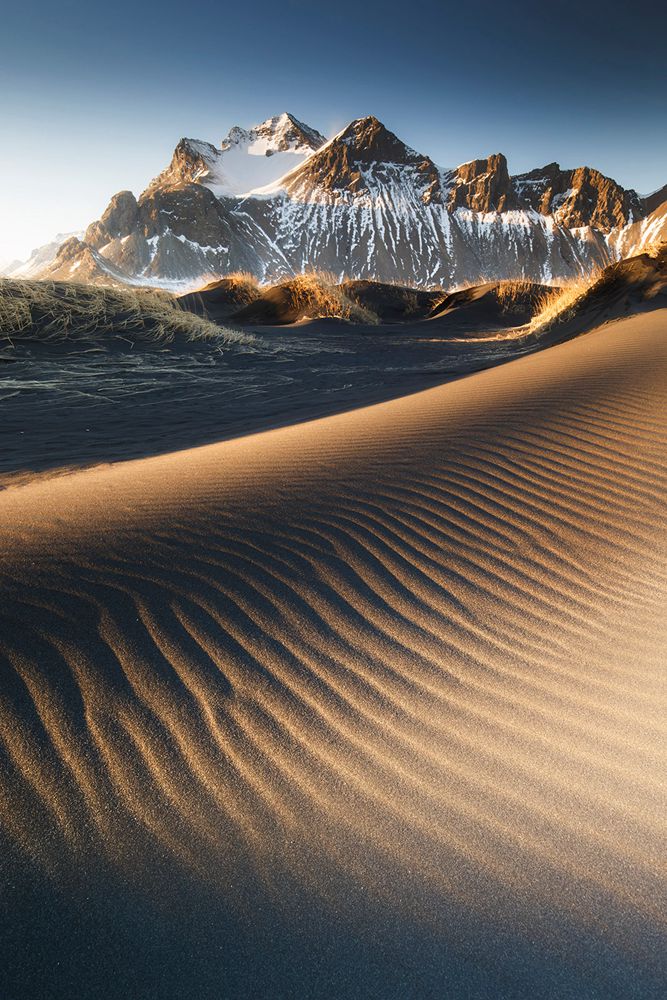
[{"label": "low mound covered in pale dry grass at left edge", "polygon": [[0,340],[172,343],[242,337],[184,310],[169,292],[0,279]]}]

